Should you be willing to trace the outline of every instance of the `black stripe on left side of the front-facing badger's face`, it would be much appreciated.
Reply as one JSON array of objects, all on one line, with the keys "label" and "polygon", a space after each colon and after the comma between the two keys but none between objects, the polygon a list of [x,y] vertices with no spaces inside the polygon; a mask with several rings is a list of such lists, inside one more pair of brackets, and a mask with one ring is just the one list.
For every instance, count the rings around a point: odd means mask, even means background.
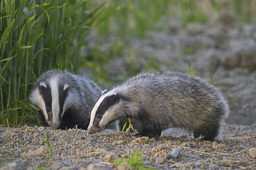
[{"label": "black stripe on left side of the front-facing badger's face", "polygon": [[44,99],[48,120],[52,120],[52,92],[49,84],[46,84],[46,86],[39,85],[39,93]]}]

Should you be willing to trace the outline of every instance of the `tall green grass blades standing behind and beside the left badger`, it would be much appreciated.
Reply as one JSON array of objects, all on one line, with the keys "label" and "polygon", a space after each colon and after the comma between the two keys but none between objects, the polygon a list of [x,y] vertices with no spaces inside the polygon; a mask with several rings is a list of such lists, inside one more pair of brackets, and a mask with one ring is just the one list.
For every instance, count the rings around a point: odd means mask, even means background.
[{"label": "tall green grass blades standing behind and beside the left badger", "polygon": [[1,0],[0,126],[6,118],[13,127],[38,124],[28,100],[33,82],[48,69],[88,66],[79,53],[85,37],[115,11],[85,0]]}]

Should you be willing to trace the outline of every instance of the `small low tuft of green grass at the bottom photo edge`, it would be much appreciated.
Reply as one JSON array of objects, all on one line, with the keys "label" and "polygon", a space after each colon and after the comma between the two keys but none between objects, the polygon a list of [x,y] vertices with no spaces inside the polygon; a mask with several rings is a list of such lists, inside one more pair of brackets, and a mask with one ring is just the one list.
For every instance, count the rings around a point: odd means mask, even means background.
[{"label": "small low tuft of green grass at the bottom photo edge", "polygon": [[134,170],[157,170],[154,167],[150,167],[144,164],[142,153],[134,152],[129,158],[115,160],[114,163],[116,166],[121,164],[122,162],[128,162]]}]

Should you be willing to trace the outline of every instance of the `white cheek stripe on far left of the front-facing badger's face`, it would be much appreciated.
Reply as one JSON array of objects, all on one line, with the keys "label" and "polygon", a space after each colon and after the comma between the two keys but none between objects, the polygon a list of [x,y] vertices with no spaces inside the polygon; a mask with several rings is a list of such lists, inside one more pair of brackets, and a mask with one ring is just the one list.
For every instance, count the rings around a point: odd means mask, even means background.
[{"label": "white cheek stripe on far left of the front-facing badger's face", "polygon": [[40,95],[39,89],[35,89],[34,92],[30,95],[30,100],[33,104],[35,104],[39,109],[41,109],[44,113],[44,117],[48,120],[48,114],[46,111],[45,103],[43,97]]}]

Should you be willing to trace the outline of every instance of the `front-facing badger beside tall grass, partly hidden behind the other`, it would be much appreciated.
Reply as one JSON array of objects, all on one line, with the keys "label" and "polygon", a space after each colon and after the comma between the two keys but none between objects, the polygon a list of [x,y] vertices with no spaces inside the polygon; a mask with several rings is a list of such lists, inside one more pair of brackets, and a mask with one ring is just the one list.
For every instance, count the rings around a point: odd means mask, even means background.
[{"label": "front-facing badger beside tall grass, partly hidden behind the other", "polygon": [[[66,70],[49,70],[37,79],[29,99],[39,109],[42,126],[87,130],[90,112],[101,92],[99,86],[88,78]],[[118,121],[106,129],[119,130]]]}]

